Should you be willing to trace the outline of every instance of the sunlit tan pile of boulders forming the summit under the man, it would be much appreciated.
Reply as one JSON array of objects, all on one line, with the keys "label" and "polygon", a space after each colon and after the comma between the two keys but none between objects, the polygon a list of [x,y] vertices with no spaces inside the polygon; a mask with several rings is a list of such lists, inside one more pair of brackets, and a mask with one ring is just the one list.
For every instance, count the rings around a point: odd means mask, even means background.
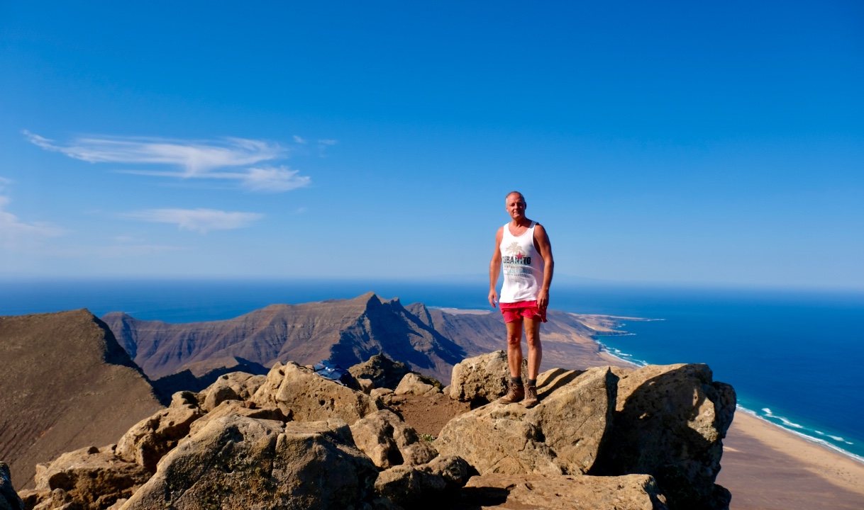
[{"label": "sunlit tan pile of boulders forming the summit under the man", "polygon": [[[295,362],[266,376],[223,375],[178,392],[116,444],[40,464],[34,488],[17,495],[0,463],[0,508],[728,507],[715,476],[735,395],[708,367],[556,368],[538,378],[540,402],[526,409],[496,401],[501,356],[457,364],[444,394],[382,359],[353,367],[372,375],[356,388]],[[473,409],[437,438],[418,434],[418,415],[398,412],[388,405],[397,392],[376,387],[393,386],[388,367],[415,401],[456,398]]]}]

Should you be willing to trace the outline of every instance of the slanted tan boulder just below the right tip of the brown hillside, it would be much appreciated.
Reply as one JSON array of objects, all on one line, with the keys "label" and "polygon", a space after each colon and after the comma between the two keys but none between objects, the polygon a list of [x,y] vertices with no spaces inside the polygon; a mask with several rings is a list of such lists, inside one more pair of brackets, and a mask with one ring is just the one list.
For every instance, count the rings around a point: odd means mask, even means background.
[{"label": "slanted tan boulder just below the right tip of the brown hillside", "polygon": [[143,419],[118,441],[116,454],[124,461],[137,463],[156,473],[156,463],[189,432],[195,420],[204,416],[192,392],[177,392],[171,404]]}]

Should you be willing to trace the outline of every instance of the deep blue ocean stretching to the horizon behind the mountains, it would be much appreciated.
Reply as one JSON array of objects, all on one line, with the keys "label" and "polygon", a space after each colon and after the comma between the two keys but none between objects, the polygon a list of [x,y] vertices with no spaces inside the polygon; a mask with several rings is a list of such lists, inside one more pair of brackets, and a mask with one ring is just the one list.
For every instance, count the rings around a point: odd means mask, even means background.
[{"label": "deep blue ocean stretching to the horizon behind the mountains", "polygon": [[[488,308],[482,281],[6,281],[0,315],[88,308],[182,323],[369,291],[403,304]],[[708,363],[716,381],[735,387],[740,412],[864,462],[864,293],[559,285],[550,307],[651,319],[625,320],[630,335],[600,341],[633,362]]]}]

